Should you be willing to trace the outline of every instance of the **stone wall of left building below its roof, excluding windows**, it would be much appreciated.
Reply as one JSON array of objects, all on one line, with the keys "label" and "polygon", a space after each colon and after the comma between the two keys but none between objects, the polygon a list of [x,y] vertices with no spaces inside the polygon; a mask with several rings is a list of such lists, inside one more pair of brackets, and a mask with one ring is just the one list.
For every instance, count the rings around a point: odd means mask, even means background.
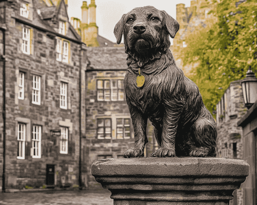
[{"label": "stone wall of left building below its roof, excluding windows", "polygon": [[[15,19],[14,7],[6,7],[6,188],[42,187],[46,184],[46,166],[54,165],[53,186],[76,186],[79,184],[80,147],[80,42],[68,40],[69,63],[56,60],[55,38],[24,25]],[[22,28],[30,29],[31,52],[21,51]],[[2,66],[1,62],[1,66]],[[84,66],[86,67],[86,66]],[[23,72],[24,99],[19,99],[19,72]],[[0,74],[2,98],[2,79]],[[41,77],[41,103],[32,103],[32,76]],[[85,75],[84,75],[85,76]],[[60,82],[68,83],[68,106],[60,109]],[[1,100],[2,102],[2,100]],[[1,105],[1,109],[3,106]],[[85,112],[84,112],[85,114]],[[82,113],[83,115],[83,113]],[[1,115],[2,116],[2,115]],[[85,117],[84,117],[85,119]],[[26,125],[25,159],[17,158],[18,123]],[[85,123],[84,123],[85,124]],[[41,157],[32,157],[32,128],[41,126]],[[68,154],[60,154],[60,136],[52,135],[51,130],[60,127],[69,129]],[[0,120],[2,143],[3,120]],[[84,129],[85,130],[85,129]],[[82,146],[85,146],[84,144]],[[2,149],[2,146],[0,146]],[[2,150],[0,150],[2,163]],[[86,166],[83,166],[84,171]],[[2,176],[2,165],[0,173]],[[82,176],[86,183],[86,174]],[[2,181],[1,181],[2,182]]]}]

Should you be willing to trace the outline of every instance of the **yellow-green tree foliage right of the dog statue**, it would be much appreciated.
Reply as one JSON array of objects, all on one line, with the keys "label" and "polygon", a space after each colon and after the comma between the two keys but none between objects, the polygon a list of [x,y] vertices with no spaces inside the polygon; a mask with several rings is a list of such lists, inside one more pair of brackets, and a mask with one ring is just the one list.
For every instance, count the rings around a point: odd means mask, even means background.
[{"label": "yellow-green tree foliage right of the dog statue", "polygon": [[173,48],[183,66],[193,67],[188,77],[199,86],[211,113],[231,81],[244,78],[249,65],[257,70],[257,3],[247,0],[236,8],[236,2],[213,1],[215,10],[209,14],[217,21],[190,33],[183,40],[187,47]]}]

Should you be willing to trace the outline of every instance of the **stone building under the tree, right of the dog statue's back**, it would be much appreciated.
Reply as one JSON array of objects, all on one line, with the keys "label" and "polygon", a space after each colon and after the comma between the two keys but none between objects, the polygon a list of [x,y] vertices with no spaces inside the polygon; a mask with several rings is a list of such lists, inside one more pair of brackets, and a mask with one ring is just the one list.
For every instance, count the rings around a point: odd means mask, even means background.
[{"label": "stone building under the tree, right of the dog statue's back", "polygon": [[[237,122],[246,113],[244,106],[241,80],[230,83],[224,95],[216,106],[216,124],[218,136],[216,141],[216,157],[243,159],[243,132],[237,127]],[[243,205],[243,190],[233,192],[231,205]],[[246,204],[244,204],[246,205]]]}]

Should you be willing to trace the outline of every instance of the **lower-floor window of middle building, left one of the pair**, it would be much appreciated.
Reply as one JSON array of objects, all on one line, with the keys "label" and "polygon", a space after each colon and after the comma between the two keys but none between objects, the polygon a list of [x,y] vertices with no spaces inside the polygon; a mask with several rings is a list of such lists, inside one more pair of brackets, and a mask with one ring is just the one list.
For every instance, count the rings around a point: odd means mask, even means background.
[{"label": "lower-floor window of middle building, left one of the pair", "polygon": [[97,119],[97,139],[111,139],[111,119]]}]

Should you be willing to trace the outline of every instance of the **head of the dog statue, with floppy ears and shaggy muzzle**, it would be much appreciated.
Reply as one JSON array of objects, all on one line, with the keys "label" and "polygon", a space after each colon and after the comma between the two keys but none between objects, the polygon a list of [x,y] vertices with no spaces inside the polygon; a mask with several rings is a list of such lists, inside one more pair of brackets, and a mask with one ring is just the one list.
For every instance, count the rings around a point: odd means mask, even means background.
[{"label": "head of the dog statue, with floppy ears and shaggy muzzle", "polygon": [[117,44],[124,35],[128,59],[132,58],[142,67],[169,49],[169,35],[174,38],[178,29],[178,22],[165,11],[148,6],[124,14],[114,28],[114,35]]}]

